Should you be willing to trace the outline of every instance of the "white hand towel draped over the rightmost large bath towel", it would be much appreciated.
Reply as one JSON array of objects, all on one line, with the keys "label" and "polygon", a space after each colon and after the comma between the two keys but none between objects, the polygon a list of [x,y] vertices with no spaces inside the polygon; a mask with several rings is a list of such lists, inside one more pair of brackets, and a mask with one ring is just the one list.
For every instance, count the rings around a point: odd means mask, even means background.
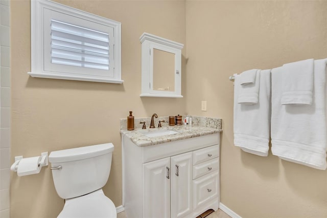
[{"label": "white hand towel draped over the rightmost large bath towel", "polygon": [[312,103],[313,59],[301,60],[283,65],[282,104]]}]

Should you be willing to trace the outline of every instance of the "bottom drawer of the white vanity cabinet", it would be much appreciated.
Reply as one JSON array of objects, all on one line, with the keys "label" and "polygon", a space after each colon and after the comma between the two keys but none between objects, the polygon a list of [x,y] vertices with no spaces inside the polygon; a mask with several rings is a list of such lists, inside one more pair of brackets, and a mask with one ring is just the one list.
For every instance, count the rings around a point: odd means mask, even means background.
[{"label": "bottom drawer of the white vanity cabinet", "polygon": [[193,180],[193,210],[205,205],[207,202],[218,198],[219,170],[206,176]]}]

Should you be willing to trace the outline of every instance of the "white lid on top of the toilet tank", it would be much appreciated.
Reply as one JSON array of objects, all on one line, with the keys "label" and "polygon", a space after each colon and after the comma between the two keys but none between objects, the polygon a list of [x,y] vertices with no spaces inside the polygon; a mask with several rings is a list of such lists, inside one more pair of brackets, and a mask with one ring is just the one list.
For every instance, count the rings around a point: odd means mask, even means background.
[{"label": "white lid on top of the toilet tank", "polygon": [[56,150],[50,153],[49,162],[60,163],[93,158],[100,155],[108,154],[113,151],[113,148],[114,147],[112,143],[105,143],[99,145]]}]

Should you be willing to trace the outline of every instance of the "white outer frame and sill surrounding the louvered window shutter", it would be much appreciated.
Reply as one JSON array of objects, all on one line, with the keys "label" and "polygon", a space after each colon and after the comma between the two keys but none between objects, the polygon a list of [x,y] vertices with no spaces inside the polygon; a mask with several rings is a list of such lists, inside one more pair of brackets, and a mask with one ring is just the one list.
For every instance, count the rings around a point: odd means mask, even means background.
[{"label": "white outer frame and sill surrounding the louvered window shutter", "polygon": [[[83,67],[65,66],[60,64],[64,72],[51,71],[45,69],[45,60],[49,61],[49,58],[44,56],[45,37],[49,37],[51,41],[51,35],[49,32],[44,32],[44,22],[48,22],[44,16],[44,10],[51,10],[58,13],[62,13],[63,16],[72,16],[74,19],[84,19],[89,23],[96,23],[97,25],[107,26],[113,28],[113,73],[109,74],[109,71],[104,74],[93,75],[94,69],[89,68],[89,73],[77,73],[78,69]],[[86,22],[86,23],[87,23]],[[49,25],[51,20],[49,21]],[[92,27],[86,28],[92,29]],[[49,41],[49,39],[46,39]],[[49,45],[50,46],[50,45]],[[50,49],[51,51],[51,49]],[[51,61],[51,59],[50,59]],[[76,68],[75,71],[70,72],[69,69]],[[82,70],[85,71],[86,68]],[[95,72],[95,71],[94,71]],[[84,12],[75,8],[61,5],[49,0],[32,0],[31,1],[31,72],[28,74],[32,77],[41,78],[52,78],[52,79],[68,79],[68,80],[82,80],[82,81],[93,81],[93,82],[107,82],[107,83],[123,83],[122,80],[122,67],[121,67],[121,23],[108,18],[100,17],[95,14]]]}]

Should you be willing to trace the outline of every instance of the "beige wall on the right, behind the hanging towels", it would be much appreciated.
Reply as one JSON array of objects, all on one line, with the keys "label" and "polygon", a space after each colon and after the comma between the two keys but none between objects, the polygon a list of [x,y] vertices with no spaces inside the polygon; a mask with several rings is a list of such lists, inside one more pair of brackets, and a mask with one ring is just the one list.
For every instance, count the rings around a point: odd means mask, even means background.
[{"label": "beige wall on the right, behind the hanging towels", "polygon": [[221,202],[242,217],[327,217],[326,170],[233,146],[228,80],[248,69],[327,57],[326,11],[327,1],[186,1],[187,112],[222,118]]}]

